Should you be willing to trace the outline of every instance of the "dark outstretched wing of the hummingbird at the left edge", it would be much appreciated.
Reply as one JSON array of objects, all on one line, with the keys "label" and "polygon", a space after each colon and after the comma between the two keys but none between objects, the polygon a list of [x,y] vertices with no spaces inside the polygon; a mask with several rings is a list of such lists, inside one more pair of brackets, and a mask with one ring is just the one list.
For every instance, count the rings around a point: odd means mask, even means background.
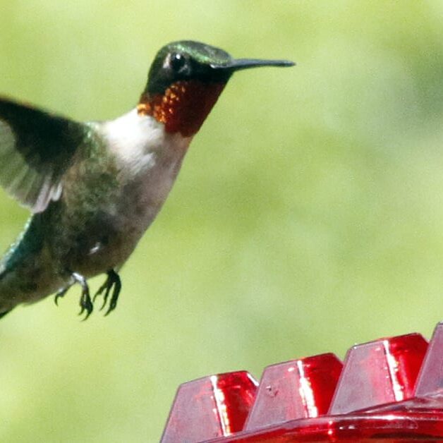
[{"label": "dark outstretched wing of the hummingbird at the left edge", "polygon": [[0,186],[32,212],[61,195],[87,126],[0,98]]}]

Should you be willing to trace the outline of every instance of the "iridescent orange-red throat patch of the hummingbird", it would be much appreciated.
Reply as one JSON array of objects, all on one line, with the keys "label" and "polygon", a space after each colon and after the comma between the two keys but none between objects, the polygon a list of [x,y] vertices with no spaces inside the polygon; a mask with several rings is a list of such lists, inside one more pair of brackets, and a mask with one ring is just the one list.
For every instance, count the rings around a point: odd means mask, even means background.
[{"label": "iridescent orange-red throat patch of the hummingbird", "polygon": [[168,133],[179,132],[190,137],[198,132],[225,85],[181,80],[168,87],[163,95],[143,94],[137,111],[164,123]]}]

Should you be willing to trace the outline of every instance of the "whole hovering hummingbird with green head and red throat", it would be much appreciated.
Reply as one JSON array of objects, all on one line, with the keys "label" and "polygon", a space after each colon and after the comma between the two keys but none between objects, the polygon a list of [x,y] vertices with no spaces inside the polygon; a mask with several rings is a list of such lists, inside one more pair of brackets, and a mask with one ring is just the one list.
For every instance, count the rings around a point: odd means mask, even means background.
[{"label": "whole hovering hummingbird with green head and red throat", "polygon": [[[81,287],[114,310],[119,271],[166,200],[188,146],[231,75],[286,60],[233,59],[182,40],[157,52],[139,102],[109,121],[78,122],[0,98],[0,186],[31,212],[0,260],[0,317]],[[87,279],[105,274],[94,298]]]}]

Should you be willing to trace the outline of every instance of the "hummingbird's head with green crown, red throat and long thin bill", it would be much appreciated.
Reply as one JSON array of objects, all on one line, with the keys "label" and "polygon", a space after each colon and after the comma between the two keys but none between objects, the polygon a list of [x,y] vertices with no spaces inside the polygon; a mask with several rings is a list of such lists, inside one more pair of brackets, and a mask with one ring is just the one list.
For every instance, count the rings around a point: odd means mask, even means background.
[{"label": "hummingbird's head with green crown, red throat and long thin bill", "polygon": [[198,132],[235,71],[260,66],[293,66],[285,60],[233,59],[209,44],[166,44],[155,56],[138,113],[164,123],[165,131],[190,137]]}]

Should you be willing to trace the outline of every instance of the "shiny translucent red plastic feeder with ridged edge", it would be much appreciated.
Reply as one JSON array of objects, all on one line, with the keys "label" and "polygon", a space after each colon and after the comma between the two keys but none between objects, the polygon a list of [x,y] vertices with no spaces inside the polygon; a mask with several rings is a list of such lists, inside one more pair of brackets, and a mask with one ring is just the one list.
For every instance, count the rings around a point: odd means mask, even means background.
[{"label": "shiny translucent red plastic feeder with ridged edge", "polygon": [[443,442],[443,322],[408,334],[182,384],[162,443]]}]

